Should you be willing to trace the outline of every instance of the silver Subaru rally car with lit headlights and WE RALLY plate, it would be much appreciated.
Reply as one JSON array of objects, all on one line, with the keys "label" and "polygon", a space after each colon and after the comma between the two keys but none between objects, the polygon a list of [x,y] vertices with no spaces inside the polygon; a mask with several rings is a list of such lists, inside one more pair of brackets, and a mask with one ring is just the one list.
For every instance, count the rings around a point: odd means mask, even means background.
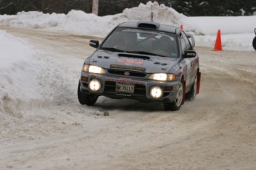
[{"label": "silver Subaru rally car with lit headlights and WE RALLY plate", "polygon": [[119,24],[95,47],[82,67],[79,103],[93,106],[99,96],[159,101],[178,110],[200,89],[194,37],[179,27],[154,21]]}]

